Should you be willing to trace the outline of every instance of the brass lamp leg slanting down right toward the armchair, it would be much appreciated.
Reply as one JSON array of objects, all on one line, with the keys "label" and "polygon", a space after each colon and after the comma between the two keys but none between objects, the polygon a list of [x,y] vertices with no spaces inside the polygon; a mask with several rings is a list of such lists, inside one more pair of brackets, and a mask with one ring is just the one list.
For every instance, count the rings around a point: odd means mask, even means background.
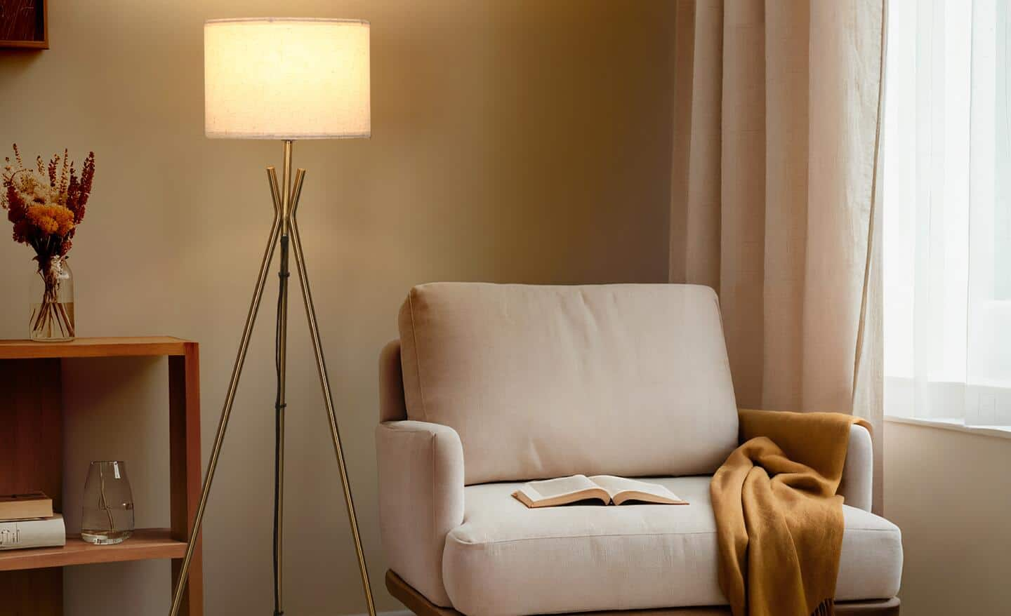
[{"label": "brass lamp leg slanting down right toward the armchair", "polygon": [[291,245],[295,256],[295,268],[298,270],[298,282],[302,288],[302,300],[305,303],[305,317],[309,322],[312,334],[312,350],[315,352],[316,371],[319,373],[319,385],[323,386],[324,402],[327,405],[327,417],[330,419],[330,435],[334,441],[334,452],[337,454],[337,466],[341,473],[341,486],[344,488],[344,502],[348,508],[348,521],[351,523],[351,536],[355,540],[355,552],[358,555],[358,569],[362,575],[362,588],[365,591],[365,601],[368,604],[369,616],[375,616],[376,608],[372,602],[372,589],[369,586],[369,572],[365,564],[365,552],[362,551],[362,539],[358,533],[358,516],[355,514],[355,502],[351,498],[351,485],[348,483],[348,471],[344,465],[344,448],[341,446],[341,431],[337,425],[337,415],[334,412],[334,395],[330,390],[330,379],[327,377],[327,362],[323,356],[323,343],[319,340],[319,328],[316,325],[315,307],[312,304],[312,292],[309,290],[309,278],[305,271],[305,256],[302,253],[302,242],[298,234],[298,221],[295,209],[298,207],[298,197],[302,191],[302,179],[305,170],[299,169],[295,178],[295,186],[291,193]]}]

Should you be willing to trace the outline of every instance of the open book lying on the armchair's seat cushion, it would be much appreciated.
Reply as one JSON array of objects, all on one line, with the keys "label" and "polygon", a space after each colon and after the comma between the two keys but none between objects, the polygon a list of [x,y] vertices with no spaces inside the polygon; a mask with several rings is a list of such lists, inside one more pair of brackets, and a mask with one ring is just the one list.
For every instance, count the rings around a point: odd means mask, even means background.
[{"label": "open book lying on the armchair's seat cushion", "polygon": [[555,507],[578,501],[600,500],[605,505],[630,501],[659,505],[687,505],[673,492],[657,484],[612,475],[573,475],[529,482],[513,493],[527,507]]}]

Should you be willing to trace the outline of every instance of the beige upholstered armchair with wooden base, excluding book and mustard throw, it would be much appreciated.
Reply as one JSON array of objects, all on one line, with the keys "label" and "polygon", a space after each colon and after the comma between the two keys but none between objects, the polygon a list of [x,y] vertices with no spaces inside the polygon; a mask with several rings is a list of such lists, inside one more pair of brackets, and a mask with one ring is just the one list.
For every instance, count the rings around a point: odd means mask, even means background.
[{"label": "beige upholstered armchair with wooden base, excluding book and mustard throw", "polygon": [[[737,442],[716,295],[691,285],[432,284],[380,360],[390,592],[417,614],[720,614],[710,476]],[[687,507],[528,509],[519,483],[651,478]],[[897,614],[899,529],[852,429],[838,614]]]}]

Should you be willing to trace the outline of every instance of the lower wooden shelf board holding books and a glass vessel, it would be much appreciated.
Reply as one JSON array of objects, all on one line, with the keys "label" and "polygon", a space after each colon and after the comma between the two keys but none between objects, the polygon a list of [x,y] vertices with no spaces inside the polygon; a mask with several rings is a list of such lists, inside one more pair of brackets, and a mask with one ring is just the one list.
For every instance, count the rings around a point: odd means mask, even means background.
[{"label": "lower wooden shelf board holding books and a glass vessel", "polygon": [[172,538],[168,528],[137,528],[133,535],[115,545],[95,545],[80,535],[67,537],[63,547],[32,547],[0,551],[0,572],[44,569],[92,562],[120,562],[153,558],[182,558],[186,542]]}]

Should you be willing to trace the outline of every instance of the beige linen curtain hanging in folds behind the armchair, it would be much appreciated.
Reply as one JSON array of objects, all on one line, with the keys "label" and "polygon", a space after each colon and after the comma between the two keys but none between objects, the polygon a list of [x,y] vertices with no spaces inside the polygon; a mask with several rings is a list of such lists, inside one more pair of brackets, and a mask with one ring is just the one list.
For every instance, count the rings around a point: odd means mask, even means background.
[{"label": "beige linen curtain hanging in folds behind the armchair", "polygon": [[678,0],[671,282],[720,294],[738,405],[876,430],[884,0]]}]

